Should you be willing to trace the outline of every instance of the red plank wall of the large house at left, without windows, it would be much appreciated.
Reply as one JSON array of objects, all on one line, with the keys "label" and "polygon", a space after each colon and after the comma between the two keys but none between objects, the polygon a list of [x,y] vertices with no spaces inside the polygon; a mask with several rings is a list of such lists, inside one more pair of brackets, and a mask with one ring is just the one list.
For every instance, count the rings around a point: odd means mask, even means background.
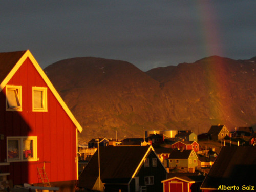
[{"label": "red plank wall of the large house at left, without windows", "polygon": [[[27,58],[8,85],[22,86],[22,111],[6,111],[4,88],[0,93],[0,161],[7,159],[7,136],[37,136],[37,161],[11,162],[13,184],[38,183],[37,167],[46,162],[51,182],[77,179],[76,127]],[[32,112],[32,86],[47,87],[48,112]]]}]

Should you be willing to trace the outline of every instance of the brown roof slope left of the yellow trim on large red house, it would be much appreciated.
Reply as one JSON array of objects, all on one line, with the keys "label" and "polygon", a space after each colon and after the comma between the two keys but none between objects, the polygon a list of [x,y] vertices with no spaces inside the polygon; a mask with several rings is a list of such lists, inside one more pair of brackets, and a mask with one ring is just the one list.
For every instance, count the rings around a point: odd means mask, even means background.
[{"label": "brown roof slope left of the yellow trim on large red house", "polygon": [[0,53],[0,83],[9,74],[26,51]]}]

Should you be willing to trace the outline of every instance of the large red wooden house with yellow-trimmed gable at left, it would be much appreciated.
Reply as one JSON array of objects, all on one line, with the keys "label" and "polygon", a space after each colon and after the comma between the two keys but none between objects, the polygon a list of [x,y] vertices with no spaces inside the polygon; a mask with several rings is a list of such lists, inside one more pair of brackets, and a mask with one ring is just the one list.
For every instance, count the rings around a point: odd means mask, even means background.
[{"label": "large red wooden house with yellow-trimmed gable at left", "polygon": [[36,186],[45,165],[60,190],[74,183],[82,127],[29,50],[0,53],[0,83],[0,172]]}]

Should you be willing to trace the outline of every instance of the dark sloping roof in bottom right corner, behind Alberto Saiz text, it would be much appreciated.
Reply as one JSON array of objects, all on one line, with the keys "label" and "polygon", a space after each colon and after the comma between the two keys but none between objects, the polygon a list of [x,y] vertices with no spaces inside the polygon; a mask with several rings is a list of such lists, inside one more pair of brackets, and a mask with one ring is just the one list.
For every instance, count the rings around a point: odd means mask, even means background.
[{"label": "dark sloping roof in bottom right corner, behind Alberto Saiz text", "polygon": [[225,146],[221,148],[201,188],[218,189],[220,185],[255,185],[256,147]]}]

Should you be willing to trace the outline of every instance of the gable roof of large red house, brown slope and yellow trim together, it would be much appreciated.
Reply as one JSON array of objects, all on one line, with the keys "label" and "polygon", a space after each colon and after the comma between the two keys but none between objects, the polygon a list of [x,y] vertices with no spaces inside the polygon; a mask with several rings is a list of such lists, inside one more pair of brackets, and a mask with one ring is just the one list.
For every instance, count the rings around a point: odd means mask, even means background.
[{"label": "gable roof of large red house, brown slope and yellow trim together", "polygon": [[33,66],[40,74],[42,79],[46,82],[47,86],[56,97],[57,101],[62,106],[63,110],[68,114],[72,122],[75,124],[77,130],[79,132],[82,131],[81,125],[78,123],[74,115],[69,110],[66,103],[62,100],[56,89],[53,87],[53,84],[46,76],[45,72],[41,69],[33,55],[30,53],[29,50],[27,51],[16,51],[16,52],[7,52],[7,53],[0,53],[0,92],[4,89],[6,84],[12,78],[12,76],[16,73],[20,66],[22,66],[23,62],[29,58],[32,62]]}]

